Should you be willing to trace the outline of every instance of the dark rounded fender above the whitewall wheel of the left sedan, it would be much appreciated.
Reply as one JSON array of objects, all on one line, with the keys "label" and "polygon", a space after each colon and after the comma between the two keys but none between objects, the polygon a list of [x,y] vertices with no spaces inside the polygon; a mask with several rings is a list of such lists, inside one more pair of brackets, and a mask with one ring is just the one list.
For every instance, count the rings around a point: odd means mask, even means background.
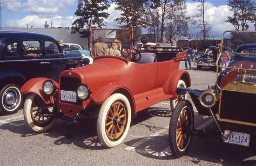
[{"label": "dark rounded fender above the whitewall wheel of the left sedan", "polygon": [[17,70],[4,69],[0,70],[0,85],[4,86],[9,83],[15,83],[22,86],[26,82],[24,75]]}]

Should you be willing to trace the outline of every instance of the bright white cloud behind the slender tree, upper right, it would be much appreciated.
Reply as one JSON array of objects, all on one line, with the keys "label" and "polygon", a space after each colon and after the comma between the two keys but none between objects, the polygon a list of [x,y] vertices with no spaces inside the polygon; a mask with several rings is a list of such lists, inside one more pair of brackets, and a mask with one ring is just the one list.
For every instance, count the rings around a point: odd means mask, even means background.
[{"label": "bright white cloud behind the slender tree, upper right", "polygon": [[[199,3],[187,3],[187,16],[193,17],[197,12]],[[211,36],[217,39],[221,38],[221,34],[226,30],[234,30],[232,24],[225,23],[227,16],[231,16],[232,12],[228,10],[227,5],[220,5],[218,7],[210,2],[205,3],[205,17],[212,26]],[[250,30],[254,30],[253,23],[249,24]],[[196,30],[191,28],[192,32]]]}]

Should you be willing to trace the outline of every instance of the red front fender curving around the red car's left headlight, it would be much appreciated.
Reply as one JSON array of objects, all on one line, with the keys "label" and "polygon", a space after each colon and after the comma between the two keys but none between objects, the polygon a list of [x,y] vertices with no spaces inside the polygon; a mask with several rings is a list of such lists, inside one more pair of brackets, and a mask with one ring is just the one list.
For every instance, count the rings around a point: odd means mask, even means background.
[{"label": "red front fender curving around the red car's left headlight", "polygon": [[46,80],[51,80],[56,85],[56,88],[58,89],[59,84],[50,78],[32,78],[22,86],[21,92],[24,95],[28,93],[36,93],[44,100],[45,103],[49,103],[50,96],[47,96],[43,93],[43,83]]}]

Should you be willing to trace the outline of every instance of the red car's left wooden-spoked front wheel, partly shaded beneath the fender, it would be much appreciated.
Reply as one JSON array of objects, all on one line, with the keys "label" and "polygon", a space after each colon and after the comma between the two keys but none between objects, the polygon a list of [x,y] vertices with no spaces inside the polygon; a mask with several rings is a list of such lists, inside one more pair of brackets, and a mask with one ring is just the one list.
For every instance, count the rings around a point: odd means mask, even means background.
[{"label": "red car's left wooden-spoked front wheel, partly shaded beneath the fender", "polygon": [[36,93],[30,93],[25,100],[24,104],[24,120],[26,125],[34,132],[44,132],[50,129],[56,122],[56,118],[53,114],[57,112],[55,107],[49,107],[42,110],[41,114],[38,114],[40,106],[45,104],[44,100],[36,95]]}]

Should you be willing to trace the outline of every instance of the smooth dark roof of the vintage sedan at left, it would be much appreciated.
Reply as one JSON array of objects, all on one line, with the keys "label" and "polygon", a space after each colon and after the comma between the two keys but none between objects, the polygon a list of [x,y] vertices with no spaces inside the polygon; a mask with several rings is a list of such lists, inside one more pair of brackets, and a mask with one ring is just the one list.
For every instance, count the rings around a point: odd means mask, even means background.
[{"label": "smooth dark roof of the vintage sedan at left", "polygon": [[46,39],[54,40],[54,38],[39,33],[32,32],[18,32],[18,31],[0,31],[0,46],[3,46],[6,42],[11,42],[15,40],[33,40],[33,39]]}]

